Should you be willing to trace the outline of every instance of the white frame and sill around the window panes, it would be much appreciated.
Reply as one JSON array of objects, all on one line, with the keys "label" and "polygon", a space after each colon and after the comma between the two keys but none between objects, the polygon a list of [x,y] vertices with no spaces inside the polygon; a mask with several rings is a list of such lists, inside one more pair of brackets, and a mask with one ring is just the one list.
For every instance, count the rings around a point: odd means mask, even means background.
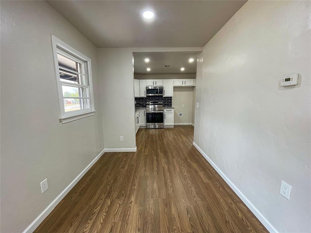
[{"label": "white frame and sill around the window panes", "polygon": [[[94,98],[93,98],[93,83],[92,83],[92,70],[91,70],[91,59],[88,58],[86,55],[82,54],[78,50],[73,49],[71,46],[66,44],[65,42],[61,41],[54,35],[51,35],[52,40],[52,51],[53,51],[53,60],[54,60],[54,68],[55,68],[55,78],[56,78],[56,85],[57,85],[57,94],[58,94],[58,105],[59,105],[59,119],[60,122],[67,123],[73,120],[81,119],[87,116],[95,115],[95,108],[94,108]],[[87,109],[80,109],[70,112],[65,112],[65,105],[64,105],[64,97],[63,97],[63,88],[62,88],[62,81],[60,80],[59,75],[59,66],[58,66],[58,58],[57,58],[57,50],[64,50],[65,52],[69,53],[71,56],[76,57],[86,63],[86,77],[88,80],[88,89],[89,89],[89,101],[90,101],[90,108]],[[81,85],[83,86],[83,85]]]}]

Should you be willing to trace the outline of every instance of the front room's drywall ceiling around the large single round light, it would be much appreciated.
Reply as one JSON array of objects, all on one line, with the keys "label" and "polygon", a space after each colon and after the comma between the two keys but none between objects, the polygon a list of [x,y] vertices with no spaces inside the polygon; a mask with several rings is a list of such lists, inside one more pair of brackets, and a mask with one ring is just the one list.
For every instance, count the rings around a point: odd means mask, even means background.
[{"label": "front room's drywall ceiling around the large single round light", "polygon": [[[98,48],[203,47],[245,0],[48,0]],[[155,17],[144,20],[152,10]]]}]

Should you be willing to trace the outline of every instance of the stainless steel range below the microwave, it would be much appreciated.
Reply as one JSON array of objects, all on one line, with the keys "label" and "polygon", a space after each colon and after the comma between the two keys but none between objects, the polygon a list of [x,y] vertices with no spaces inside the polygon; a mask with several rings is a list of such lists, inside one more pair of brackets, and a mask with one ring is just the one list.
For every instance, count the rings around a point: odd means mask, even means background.
[{"label": "stainless steel range below the microwave", "polygon": [[146,123],[147,129],[163,129],[163,102],[148,101],[146,105]]}]

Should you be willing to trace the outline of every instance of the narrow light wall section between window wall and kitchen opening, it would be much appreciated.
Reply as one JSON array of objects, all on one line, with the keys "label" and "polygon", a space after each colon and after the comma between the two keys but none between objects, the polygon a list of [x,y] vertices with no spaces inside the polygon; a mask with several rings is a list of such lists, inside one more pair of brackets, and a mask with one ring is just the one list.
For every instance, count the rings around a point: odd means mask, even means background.
[{"label": "narrow light wall section between window wall and kitchen opening", "polygon": [[132,57],[132,49],[98,49],[105,149],[136,148]]}]

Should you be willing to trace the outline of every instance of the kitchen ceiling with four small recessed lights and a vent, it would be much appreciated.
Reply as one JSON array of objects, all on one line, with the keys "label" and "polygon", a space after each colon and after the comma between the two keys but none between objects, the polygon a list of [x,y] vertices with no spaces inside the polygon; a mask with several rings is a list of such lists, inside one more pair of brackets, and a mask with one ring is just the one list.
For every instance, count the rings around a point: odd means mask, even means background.
[{"label": "kitchen ceiling with four small recessed lights and a vent", "polygon": [[[195,74],[198,52],[135,52],[134,74]],[[145,62],[149,58],[149,62]],[[193,58],[190,63],[189,59]],[[171,66],[171,67],[164,67]],[[148,72],[147,68],[151,70]],[[180,68],[185,70],[181,71]]]}]

